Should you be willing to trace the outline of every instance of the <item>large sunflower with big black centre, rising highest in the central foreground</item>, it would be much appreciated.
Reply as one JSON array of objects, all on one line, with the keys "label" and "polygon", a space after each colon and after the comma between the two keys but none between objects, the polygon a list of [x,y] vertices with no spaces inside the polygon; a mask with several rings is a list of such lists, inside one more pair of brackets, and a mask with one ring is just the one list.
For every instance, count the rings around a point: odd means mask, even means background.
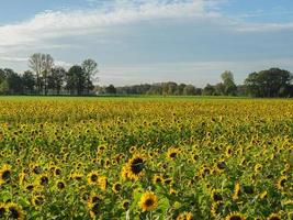
[{"label": "large sunflower with big black centre, rising highest in the central foreground", "polygon": [[144,175],[145,158],[140,155],[136,155],[127,163],[127,176],[131,179],[138,179]]}]

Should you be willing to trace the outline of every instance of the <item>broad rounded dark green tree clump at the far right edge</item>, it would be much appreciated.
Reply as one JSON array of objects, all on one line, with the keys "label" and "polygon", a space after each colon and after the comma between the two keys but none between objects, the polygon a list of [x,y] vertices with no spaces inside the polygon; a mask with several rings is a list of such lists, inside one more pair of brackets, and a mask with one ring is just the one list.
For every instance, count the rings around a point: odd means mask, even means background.
[{"label": "broad rounded dark green tree clump at the far right edge", "polygon": [[251,73],[245,80],[247,91],[253,97],[290,96],[292,74],[280,68]]}]

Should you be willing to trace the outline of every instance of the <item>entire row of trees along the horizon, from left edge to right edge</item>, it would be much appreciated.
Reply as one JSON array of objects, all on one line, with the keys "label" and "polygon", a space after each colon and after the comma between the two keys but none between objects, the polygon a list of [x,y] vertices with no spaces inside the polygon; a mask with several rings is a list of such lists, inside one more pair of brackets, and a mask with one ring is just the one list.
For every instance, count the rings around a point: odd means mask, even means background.
[{"label": "entire row of trees along the horizon, from left edge to right edge", "polygon": [[161,96],[250,96],[293,97],[293,76],[280,68],[270,68],[247,76],[236,85],[232,72],[221,75],[222,81],[204,88],[173,81],[114,87],[94,86],[98,64],[86,59],[68,70],[54,63],[49,54],[35,53],[29,58],[30,69],[18,74],[0,68],[0,95],[161,95]]}]

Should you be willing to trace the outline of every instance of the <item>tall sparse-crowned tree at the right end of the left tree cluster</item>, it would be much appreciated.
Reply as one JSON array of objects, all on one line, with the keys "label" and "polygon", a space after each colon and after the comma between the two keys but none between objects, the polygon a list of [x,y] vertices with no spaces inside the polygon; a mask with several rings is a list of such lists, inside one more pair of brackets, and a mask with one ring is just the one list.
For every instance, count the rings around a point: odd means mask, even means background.
[{"label": "tall sparse-crowned tree at the right end of the left tree cluster", "polygon": [[92,79],[93,79],[93,76],[99,72],[98,64],[95,61],[88,58],[83,61],[83,63],[81,64],[81,67],[86,75],[84,86],[86,86],[87,94],[89,95],[90,90],[94,88],[92,84]]}]

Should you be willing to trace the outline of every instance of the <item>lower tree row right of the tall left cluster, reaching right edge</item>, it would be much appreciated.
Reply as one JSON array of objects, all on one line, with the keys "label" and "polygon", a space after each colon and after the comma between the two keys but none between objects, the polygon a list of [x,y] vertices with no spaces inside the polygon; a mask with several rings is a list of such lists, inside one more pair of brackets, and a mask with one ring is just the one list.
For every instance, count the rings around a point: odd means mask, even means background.
[{"label": "lower tree row right of the tall left cluster, reaching right edge", "polygon": [[292,74],[288,70],[271,68],[251,73],[244,85],[236,85],[232,72],[221,75],[222,81],[207,84],[204,88],[173,81],[143,84],[134,86],[95,86],[98,95],[160,95],[160,96],[250,96],[250,97],[293,97]]}]

